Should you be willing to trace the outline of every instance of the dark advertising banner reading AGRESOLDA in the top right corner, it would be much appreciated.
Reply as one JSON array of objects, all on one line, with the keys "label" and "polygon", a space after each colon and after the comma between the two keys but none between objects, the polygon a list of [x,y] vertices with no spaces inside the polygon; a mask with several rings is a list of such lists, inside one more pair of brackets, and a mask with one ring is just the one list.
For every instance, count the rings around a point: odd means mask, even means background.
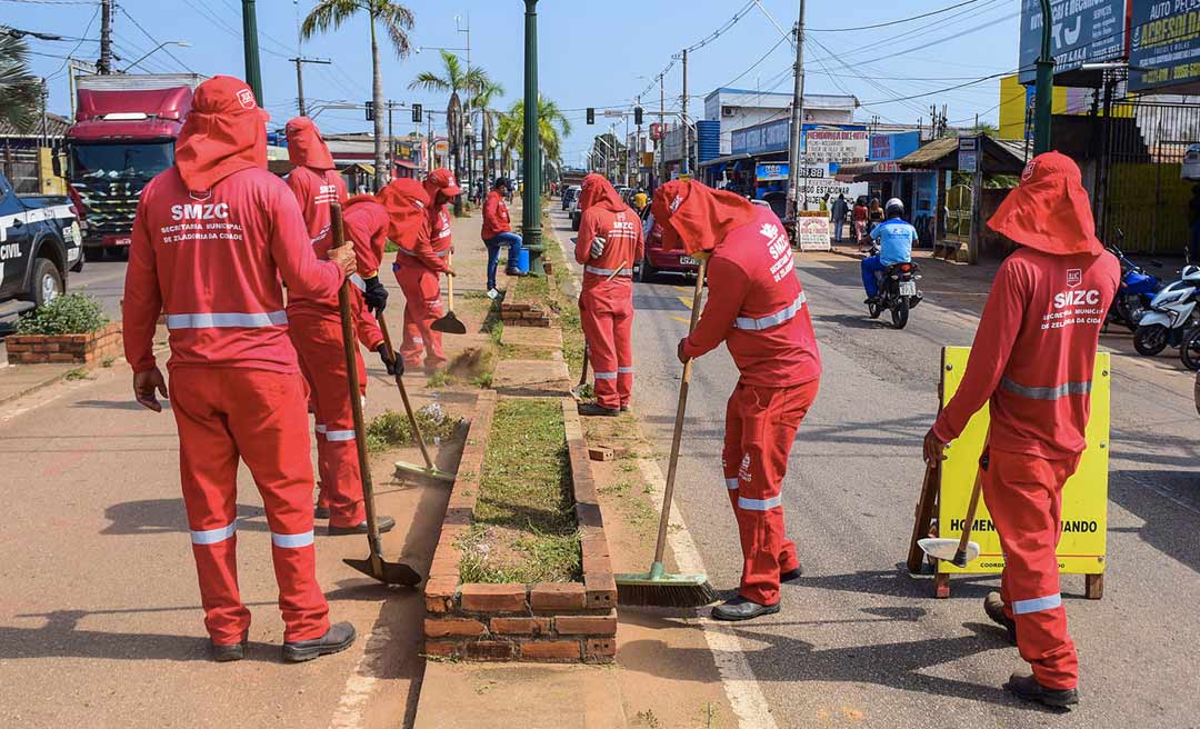
[{"label": "dark advertising banner reading AGRESOLDA in the top right corner", "polygon": [[1200,0],[1133,0],[1130,11],[1129,90],[1200,85]]}]

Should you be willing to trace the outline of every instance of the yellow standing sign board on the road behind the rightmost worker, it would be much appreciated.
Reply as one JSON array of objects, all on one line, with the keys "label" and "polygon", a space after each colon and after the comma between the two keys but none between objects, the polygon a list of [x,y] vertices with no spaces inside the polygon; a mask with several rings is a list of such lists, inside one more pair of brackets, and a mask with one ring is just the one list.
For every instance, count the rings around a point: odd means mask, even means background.
[{"label": "yellow standing sign board on the road behind the rightmost worker", "polygon": [[[966,374],[970,347],[942,349],[942,404],[949,402]],[[1109,393],[1112,383],[1109,354],[1097,353],[1092,378],[1092,416],[1087,423],[1087,450],[1075,474],[1062,491],[1062,539],[1058,569],[1064,574],[1102,574],[1105,563],[1109,504]],[[990,424],[988,406],[977,412],[966,429],[946,448],[938,496],[938,537],[958,539],[971,501],[979,455]],[[976,512],[971,540],[979,544],[979,558],[960,569],[938,561],[937,570],[949,574],[998,573],[1004,568],[1000,537],[984,501]]]}]

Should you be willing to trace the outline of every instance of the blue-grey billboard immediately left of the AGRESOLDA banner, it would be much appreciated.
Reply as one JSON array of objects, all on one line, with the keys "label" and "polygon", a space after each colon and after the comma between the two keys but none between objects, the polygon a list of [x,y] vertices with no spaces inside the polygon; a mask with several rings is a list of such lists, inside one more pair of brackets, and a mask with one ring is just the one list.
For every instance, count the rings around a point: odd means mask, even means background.
[{"label": "blue-grey billboard immediately left of the AGRESOLDA banner", "polygon": [[[1138,4],[1134,0],[1135,7]],[[1051,0],[1050,52],[1054,54],[1055,74],[1075,71],[1085,61],[1111,61],[1124,56],[1124,5],[1126,0]],[[1134,25],[1136,23],[1135,19]],[[1040,54],[1042,2],[1021,0],[1019,78],[1022,84],[1033,83],[1037,76],[1034,64]]]}]

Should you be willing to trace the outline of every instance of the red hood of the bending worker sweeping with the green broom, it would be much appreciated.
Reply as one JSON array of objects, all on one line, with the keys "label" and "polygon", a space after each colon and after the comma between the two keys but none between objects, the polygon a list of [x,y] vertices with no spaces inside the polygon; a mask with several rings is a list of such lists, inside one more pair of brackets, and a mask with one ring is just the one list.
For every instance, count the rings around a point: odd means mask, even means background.
[{"label": "red hood of the bending worker sweeping with the green broom", "polygon": [[654,191],[650,208],[662,226],[662,247],[682,247],[688,253],[712,251],[728,235],[758,215],[740,195],[713,190],[696,180],[671,180]]}]

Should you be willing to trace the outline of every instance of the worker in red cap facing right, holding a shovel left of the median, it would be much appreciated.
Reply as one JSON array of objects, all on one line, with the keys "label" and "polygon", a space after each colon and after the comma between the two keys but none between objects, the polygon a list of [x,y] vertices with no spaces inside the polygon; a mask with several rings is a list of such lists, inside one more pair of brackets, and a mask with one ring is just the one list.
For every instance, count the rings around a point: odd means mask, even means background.
[{"label": "worker in red cap facing right, holding a shovel left of the median", "polygon": [[430,219],[428,234],[421,237],[413,249],[400,246],[396,253],[396,281],[404,291],[404,341],[400,354],[404,366],[421,364],[425,352],[425,371],[433,372],[445,364],[442,349],[442,333],[430,328],[442,317],[440,275],[454,275],[450,265],[451,232],[449,203],[462,193],[449,169],[434,169],[424,183],[426,215]]}]

